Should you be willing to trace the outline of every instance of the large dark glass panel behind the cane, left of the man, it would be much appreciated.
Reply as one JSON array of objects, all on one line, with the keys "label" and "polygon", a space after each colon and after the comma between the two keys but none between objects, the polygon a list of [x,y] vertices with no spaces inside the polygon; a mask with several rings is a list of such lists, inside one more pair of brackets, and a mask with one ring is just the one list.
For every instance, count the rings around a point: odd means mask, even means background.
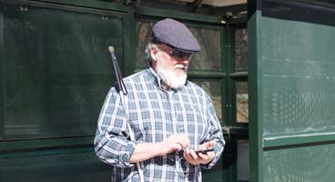
[{"label": "large dark glass panel behind the cane, left of the man", "polygon": [[122,20],[4,6],[2,139],[93,136],[113,78],[107,46],[123,59]]}]

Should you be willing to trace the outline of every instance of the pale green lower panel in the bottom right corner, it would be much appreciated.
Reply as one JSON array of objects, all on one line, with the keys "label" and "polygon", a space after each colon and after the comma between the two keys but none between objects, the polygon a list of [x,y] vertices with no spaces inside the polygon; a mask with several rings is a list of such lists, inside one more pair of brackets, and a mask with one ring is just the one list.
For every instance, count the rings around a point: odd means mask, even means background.
[{"label": "pale green lower panel in the bottom right corner", "polygon": [[334,181],[334,154],[333,144],[264,152],[264,181]]}]

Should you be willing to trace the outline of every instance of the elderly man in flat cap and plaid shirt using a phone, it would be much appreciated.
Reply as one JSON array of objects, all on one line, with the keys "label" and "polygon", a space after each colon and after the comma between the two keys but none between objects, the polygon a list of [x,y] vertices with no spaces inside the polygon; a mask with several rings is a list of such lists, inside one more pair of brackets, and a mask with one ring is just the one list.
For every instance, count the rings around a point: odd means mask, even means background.
[{"label": "elderly man in flat cap and plaid shirt using a phone", "polygon": [[139,181],[140,173],[144,181],[201,181],[201,168],[217,163],[225,142],[210,97],[187,80],[198,41],[186,25],[164,19],[153,26],[147,50],[148,68],[124,79],[123,103],[117,86],[107,95],[96,155],[113,166],[112,181]]}]

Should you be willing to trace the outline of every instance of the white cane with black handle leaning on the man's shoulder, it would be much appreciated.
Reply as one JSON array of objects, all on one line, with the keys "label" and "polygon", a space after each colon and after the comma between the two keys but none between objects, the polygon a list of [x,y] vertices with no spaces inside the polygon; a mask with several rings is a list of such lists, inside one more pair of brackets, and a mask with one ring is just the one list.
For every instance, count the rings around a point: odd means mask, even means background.
[{"label": "white cane with black handle leaning on the man's shoulder", "polygon": [[[120,95],[121,103],[125,108],[125,115],[126,115],[126,119],[127,119],[127,127],[128,127],[128,130],[129,130],[130,140],[135,141],[135,134],[134,134],[134,131],[131,129],[131,126],[129,124],[130,118],[127,116],[127,108],[126,108],[126,105],[124,103],[124,96],[127,96],[127,88],[125,86],[125,83],[123,82],[121,71],[120,71],[120,68],[117,64],[117,56],[115,56],[114,47],[109,46],[108,50],[109,50],[110,56],[112,58],[114,73],[115,73],[116,78],[117,78],[118,94]],[[138,169],[139,181],[144,182],[143,170],[142,170],[139,162],[137,162],[137,169]]]}]

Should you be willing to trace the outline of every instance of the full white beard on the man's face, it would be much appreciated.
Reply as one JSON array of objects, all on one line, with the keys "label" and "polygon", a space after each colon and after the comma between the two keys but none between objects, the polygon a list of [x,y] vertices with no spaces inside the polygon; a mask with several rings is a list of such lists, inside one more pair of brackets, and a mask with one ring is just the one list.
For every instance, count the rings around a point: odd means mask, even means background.
[{"label": "full white beard on the man's face", "polygon": [[[175,68],[184,68],[183,65],[176,65],[172,70],[168,70],[162,63],[161,59],[157,60],[157,75],[163,80],[164,84],[171,88],[178,89],[185,86],[188,74],[185,72],[175,71]],[[188,67],[185,67],[188,70]]]}]

